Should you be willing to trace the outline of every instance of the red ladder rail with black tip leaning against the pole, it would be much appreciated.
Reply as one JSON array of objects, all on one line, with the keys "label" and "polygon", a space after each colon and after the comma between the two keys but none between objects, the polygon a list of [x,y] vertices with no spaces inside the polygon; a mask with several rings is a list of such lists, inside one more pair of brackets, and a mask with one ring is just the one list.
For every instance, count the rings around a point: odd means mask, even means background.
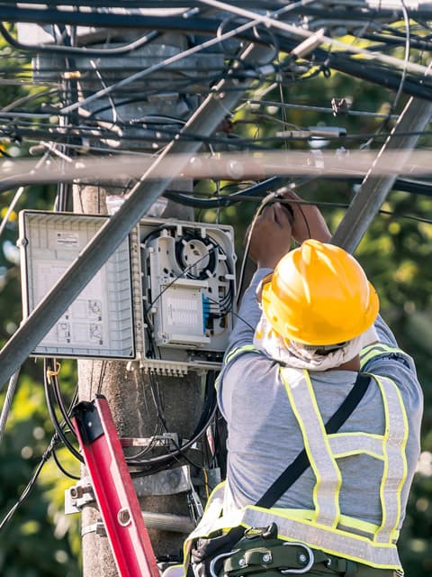
[{"label": "red ladder rail with black tip leaning against the pole", "polygon": [[72,412],[106,534],[121,577],[159,577],[111,410],[103,395]]}]

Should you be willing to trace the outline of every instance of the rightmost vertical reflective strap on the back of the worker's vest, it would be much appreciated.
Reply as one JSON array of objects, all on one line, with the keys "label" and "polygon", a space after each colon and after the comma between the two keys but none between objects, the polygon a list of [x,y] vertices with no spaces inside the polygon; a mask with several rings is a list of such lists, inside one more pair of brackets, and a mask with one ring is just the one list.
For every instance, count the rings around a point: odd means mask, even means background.
[{"label": "rightmost vertical reflective strap on the back of the worker's vest", "polygon": [[383,436],[384,472],[380,489],[383,521],[374,541],[386,543],[392,541],[401,519],[401,490],[408,470],[405,447],[409,429],[401,392],[396,384],[384,377],[373,377],[383,397],[386,423]]}]

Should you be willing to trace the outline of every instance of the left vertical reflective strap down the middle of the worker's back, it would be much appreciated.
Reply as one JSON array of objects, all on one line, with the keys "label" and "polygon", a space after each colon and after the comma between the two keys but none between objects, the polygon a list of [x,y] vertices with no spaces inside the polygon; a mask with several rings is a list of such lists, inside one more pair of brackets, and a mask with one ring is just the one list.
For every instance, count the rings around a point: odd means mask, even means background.
[{"label": "left vertical reflective strap down the middle of the worker's back", "polygon": [[[339,490],[342,478],[330,447],[326,429],[320,415],[308,371],[298,373],[298,379],[288,382],[281,367],[281,378],[290,399],[293,413],[302,430],[303,442],[315,473],[313,489],[314,521],[321,525],[337,527],[340,515]],[[320,466],[318,465],[320,463]]]}]

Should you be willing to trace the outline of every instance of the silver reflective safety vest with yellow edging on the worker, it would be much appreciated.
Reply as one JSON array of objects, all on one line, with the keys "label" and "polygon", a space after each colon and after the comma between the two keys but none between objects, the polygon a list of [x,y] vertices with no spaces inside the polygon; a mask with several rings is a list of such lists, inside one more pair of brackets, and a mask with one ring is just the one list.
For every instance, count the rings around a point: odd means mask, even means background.
[{"label": "silver reflective safety vest with yellow edging on the worker", "polygon": [[[257,352],[247,345],[229,355],[226,364],[239,354]],[[374,356],[402,353],[383,344],[366,347],[361,355],[362,366]],[[224,367],[225,368],[225,367]],[[223,373],[223,371],[222,371]],[[366,373],[367,374],[367,373]],[[369,374],[380,389],[383,399],[384,433],[364,431],[328,435],[320,415],[308,371],[280,369],[281,379],[302,430],[303,441],[316,482],[312,510],[259,508],[249,505],[229,515],[223,514],[224,483],[211,494],[204,515],[185,542],[185,560],[189,545],[200,536],[231,527],[268,527],[275,522],[279,538],[302,542],[314,549],[346,559],[365,563],[378,569],[400,569],[396,548],[401,522],[401,490],[407,477],[405,446],[409,434],[408,418],[401,393],[393,380]],[[380,525],[342,515],[339,490],[342,484],[338,458],[366,453],[383,461],[380,500],[383,511]]]}]

